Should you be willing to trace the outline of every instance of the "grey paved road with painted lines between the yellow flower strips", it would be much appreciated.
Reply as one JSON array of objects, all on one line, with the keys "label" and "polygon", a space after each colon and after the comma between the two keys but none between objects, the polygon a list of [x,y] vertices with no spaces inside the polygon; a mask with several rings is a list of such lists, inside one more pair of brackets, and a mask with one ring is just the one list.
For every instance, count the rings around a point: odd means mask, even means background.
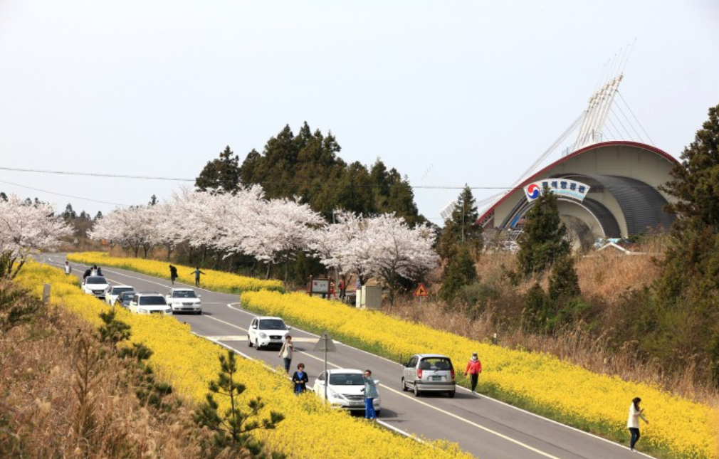
[{"label": "grey paved road with painted lines between the yellow flower strips", "polygon": [[[53,266],[62,266],[63,254],[43,258]],[[73,264],[73,274],[82,276],[85,268]],[[165,294],[170,288],[168,279],[128,272],[122,269],[103,269],[111,284],[132,285],[138,291],[157,291]],[[182,285],[182,284],[179,284]],[[239,297],[198,289],[202,295],[202,315],[175,315],[189,323],[194,333],[218,340],[225,346],[245,355],[265,361],[272,366],[282,363],[276,350],[257,351],[247,346],[247,326],[252,312],[239,308]],[[292,325],[291,323],[289,325]],[[293,367],[303,362],[312,376],[322,371],[321,355],[312,353],[317,336],[294,329],[296,344]],[[467,350],[470,353],[471,350]],[[457,362],[457,366],[464,362]],[[610,459],[636,458],[628,448],[608,440],[574,430],[571,427],[544,419],[521,409],[484,396],[473,396],[464,388],[457,390],[454,399],[446,395],[414,397],[400,389],[402,366],[399,363],[351,346],[338,343],[337,352],[329,354],[330,368],[370,368],[380,380],[382,414],[380,420],[395,430],[429,439],[457,442],[466,451],[481,459]],[[591,394],[587,394],[591,397]]]}]

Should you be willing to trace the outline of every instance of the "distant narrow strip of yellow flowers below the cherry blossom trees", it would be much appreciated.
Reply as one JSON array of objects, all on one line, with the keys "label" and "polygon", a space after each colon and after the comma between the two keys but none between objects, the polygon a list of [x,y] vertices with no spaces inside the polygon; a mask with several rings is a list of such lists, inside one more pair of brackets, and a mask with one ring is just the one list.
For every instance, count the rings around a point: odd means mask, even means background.
[{"label": "distant narrow strip of yellow flowers below the cherry blossom trees", "polygon": [[[109,256],[105,252],[79,252],[68,254],[68,260],[82,264],[96,264],[98,266],[113,266],[115,268],[127,269],[128,271],[139,272],[155,277],[169,279],[170,262],[145,260],[139,258],[120,258]],[[178,269],[178,280],[185,284],[194,285],[195,275],[192,274],[195,268],[175,264]],[[284,292],[285,287],[279,280],[263,280],[254,277],[239,276],[229,272],[215,271],[214,269],[202,269],[201,287],[216,292],[242,293],[260,289]]]}]

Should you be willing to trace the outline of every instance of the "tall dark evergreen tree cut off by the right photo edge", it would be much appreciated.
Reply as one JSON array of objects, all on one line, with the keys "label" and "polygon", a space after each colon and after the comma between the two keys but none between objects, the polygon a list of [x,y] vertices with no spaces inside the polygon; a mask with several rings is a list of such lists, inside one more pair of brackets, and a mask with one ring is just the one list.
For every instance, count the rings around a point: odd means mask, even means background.
[{"label": "tall dark evergreen tree cut off by the right photo edge", "polygon": [[650,353],[686,363],[700,356],[707,376],[719,386],[719,353],[713,343],[719,336],[719,106],[684,148],[681,163],[672,169],[673,180],[663,190],[676,200],[669,206],[676,215],[664,259],[649,329]]}]

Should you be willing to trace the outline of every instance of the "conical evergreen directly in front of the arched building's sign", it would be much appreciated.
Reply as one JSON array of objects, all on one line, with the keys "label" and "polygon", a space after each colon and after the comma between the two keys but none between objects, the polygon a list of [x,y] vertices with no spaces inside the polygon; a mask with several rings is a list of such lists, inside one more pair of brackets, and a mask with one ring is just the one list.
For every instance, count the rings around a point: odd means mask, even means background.
[{"label": "conical evergreen directly in front of the arched building's sign", "polygon": [[521,274],[525,276],[543,272],[569,254],[569,242],[564,238],[567,228],[559,220],[557,196],[549,188],[544,187],[526,214],[526,220],[517,254]]}]

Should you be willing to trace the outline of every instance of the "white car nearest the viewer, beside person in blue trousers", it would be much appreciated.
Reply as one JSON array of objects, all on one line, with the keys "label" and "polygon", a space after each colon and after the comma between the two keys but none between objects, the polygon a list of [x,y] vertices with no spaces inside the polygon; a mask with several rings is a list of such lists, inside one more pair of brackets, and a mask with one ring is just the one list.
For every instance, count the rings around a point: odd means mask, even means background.
[{"label": "white car nearest the viewer, beside person in blue trousers", "polygon": [[[365,410],[365,372],[351,368],[335,368],[327,370],[329,384],[327,384],[327,401],[333,408],[349,409],[350,411]],[[324,400],[324,385],[326,383],[324,371],[317,376],[313,391]],[[380,381],[375,381],[379,386]],[[379,390],[378,390],[379,391]],[[375,404],[375,413],[380,415],[382,401],[380,397],[372,400]]]}]

